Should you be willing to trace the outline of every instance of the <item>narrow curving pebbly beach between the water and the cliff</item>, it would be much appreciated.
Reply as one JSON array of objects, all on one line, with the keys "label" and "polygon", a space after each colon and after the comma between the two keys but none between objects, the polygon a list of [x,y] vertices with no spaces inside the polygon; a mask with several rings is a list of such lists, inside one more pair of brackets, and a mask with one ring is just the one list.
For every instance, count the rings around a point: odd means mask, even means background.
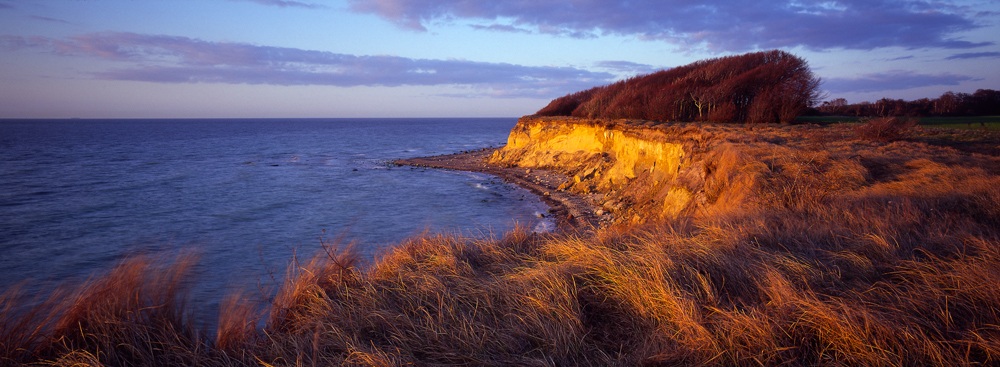
[{"label": "narrow curving pebbly beach between the water and the cliff", "polygon": [[600,227],[609,221],[597,214],[597,206],[588,196],[580,196],[559,190],[559,186],[570,178],[552,170],[501,167],[486,163],[493,152],[500,148],[484,148],[468,152],[399,159],[393,161],[400,166],[428,167],[457,171],[479,172],[499,177],[505,182],[517,185],[538,196],[549,206],[549,213],[555,219],[556,228],[562,232],[572,232]]}]

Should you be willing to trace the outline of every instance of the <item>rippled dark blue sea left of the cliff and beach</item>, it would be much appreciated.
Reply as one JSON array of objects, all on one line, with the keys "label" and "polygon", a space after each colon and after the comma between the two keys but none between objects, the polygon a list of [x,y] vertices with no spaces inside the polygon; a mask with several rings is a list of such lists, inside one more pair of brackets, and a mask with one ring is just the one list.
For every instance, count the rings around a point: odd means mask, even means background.
[{"label": "rippled dark blue sea left of the cliff and beach", "polygon": [[537,198],[491,176],[386,164],[498,146],[516,122],[0,120],[0,290],[194,249],[196,297],[213,299],[270,282],[321,236],[370,259],[424,230],[551,228]]}]

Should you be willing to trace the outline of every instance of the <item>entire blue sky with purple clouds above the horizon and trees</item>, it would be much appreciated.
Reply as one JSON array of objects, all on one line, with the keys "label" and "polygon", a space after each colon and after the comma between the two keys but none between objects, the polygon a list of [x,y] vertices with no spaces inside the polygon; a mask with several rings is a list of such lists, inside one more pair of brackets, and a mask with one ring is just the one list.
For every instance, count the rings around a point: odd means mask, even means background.
[{"label": "entire blue sky with purple clouds above the horizon and trees", "polygon": [[1000,0],[0,0],[0,118],[518,117],[781,49],[827,99],[1000,89]]}]

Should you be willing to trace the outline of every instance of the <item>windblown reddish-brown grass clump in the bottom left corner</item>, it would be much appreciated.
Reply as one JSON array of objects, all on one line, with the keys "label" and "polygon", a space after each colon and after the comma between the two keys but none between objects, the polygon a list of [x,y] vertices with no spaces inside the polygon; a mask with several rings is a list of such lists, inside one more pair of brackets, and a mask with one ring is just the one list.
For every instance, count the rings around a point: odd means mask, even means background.
[{"label": "windblown reddish-brown grass clump in the bottom left corner", "polygon": [[186,307],[196,258],[169,265],[134,256],[82,285],[64,285],[47,299],[24,306],[4,296],[0,315],[3,361],[55,364],[192,365],[207,347]]}]

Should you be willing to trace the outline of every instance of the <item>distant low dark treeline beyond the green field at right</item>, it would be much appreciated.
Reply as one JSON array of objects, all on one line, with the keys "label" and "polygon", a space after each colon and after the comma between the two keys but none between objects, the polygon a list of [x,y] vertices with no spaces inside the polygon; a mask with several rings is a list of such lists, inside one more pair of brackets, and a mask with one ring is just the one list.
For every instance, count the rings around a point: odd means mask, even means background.
[{"label": "distant low dark treeline beyond the green field at right", "polygon": [[1000,91],[980,89],[972,94],[947,92],[935,99],[882,98],[855,104],[837,98],[823,102],[816,110],[823,115],[860,117],[993,116],[1000,115]]}]

